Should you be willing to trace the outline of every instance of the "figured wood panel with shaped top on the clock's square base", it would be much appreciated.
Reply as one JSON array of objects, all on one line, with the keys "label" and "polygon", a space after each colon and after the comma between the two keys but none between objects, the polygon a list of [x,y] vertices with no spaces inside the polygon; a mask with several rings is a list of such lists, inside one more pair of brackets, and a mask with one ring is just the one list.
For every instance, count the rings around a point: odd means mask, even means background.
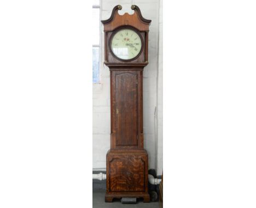
[{"label": "figured wood panel with shaped top on the clock's square base", "polygon": [[111,192],[145,192],[145,162],[142,157],[126,156],[109,162]]}]

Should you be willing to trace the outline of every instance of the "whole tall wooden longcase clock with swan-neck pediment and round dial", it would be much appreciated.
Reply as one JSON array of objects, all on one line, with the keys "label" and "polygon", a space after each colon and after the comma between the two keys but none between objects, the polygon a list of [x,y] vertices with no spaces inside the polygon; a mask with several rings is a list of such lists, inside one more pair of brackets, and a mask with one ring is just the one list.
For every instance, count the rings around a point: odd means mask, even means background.
[{"label": "whole tall wooden longcase clock with swan-neck pediment and round dial", "polygon": [[148,32],[136,5],[132,15],[113,8],[104,25],[104,55],[110,70],[110,150],[105,201],[136,197],[149,201],[148,154],[143,149],[143,68],[148,64]]}]

